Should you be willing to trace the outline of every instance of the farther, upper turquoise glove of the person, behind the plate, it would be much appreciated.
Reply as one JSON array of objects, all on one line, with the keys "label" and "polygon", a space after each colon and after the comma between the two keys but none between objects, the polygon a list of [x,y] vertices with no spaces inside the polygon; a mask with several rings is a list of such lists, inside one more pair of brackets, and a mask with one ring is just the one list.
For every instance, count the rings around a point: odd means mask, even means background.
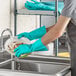
[{"label": "farther, upper turquoise glove of the person, behind the plate", "polygon": [[46,28],[45,28],[45,26],[42,26],[41,28],[38,28],[34,31],[31,31],[29,33],[23,32],[23,33],[18,34],[17,36],[18,36],[18,39],[20,39],[22,37],[26,37],[29,40],[34,40],[34,39],[41,38],[45,34],[46,34]]}]

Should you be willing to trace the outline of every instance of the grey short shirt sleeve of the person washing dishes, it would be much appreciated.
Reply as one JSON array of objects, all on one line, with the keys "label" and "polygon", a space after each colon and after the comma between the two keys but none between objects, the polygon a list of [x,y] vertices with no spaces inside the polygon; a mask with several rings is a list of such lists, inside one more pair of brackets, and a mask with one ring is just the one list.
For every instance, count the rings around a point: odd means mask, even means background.
[{"label": "grey short shirt sleeve of the person washing dishes", "polygon": [[76,19],[76,0],[65,0],[61,15]]}]

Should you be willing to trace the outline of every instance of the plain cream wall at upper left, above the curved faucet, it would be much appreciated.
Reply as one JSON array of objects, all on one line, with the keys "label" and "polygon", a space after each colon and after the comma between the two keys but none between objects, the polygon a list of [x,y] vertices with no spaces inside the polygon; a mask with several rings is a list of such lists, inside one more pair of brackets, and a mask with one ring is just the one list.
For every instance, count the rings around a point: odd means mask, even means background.
[{"label": "plain cream wall at upper left, above the curved faucet", "polygon": [[0,35],[10,27],[10,0],[0,0]]}]

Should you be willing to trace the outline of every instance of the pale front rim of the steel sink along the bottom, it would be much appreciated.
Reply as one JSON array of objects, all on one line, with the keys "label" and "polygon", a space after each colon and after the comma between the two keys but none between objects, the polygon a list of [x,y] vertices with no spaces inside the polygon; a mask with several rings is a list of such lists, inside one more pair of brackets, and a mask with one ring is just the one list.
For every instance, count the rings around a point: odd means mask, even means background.
[{"label": "pale front rim of the steel sink along the bottom", "polygon": [[47,74],[32,73],[27,71],[12,71],[12,70],[0,69],[0,76],[71,76],[71,75],[70,74],[47,75]]}]

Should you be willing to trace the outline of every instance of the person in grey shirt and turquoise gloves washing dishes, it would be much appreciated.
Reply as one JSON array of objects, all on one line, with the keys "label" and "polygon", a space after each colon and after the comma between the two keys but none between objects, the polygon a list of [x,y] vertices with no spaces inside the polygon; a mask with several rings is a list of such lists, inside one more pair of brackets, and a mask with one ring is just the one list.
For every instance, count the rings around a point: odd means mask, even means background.
[{"label": "person in grey shirt and turquoise gloves washing dishes", "polygon": [[71,76],[76,76],[76,0],[64,0],[64,8],[55,25],[49,28],[43,26],[29,33],[18,34],[18,38],[26,37],[29,40],[38,40],[33,44],[22,44],[14,49],[15,56],[20,57],[22,54],[34,51],[48,51],[46,45],[62,36],[66,28],[71,47]]}]

